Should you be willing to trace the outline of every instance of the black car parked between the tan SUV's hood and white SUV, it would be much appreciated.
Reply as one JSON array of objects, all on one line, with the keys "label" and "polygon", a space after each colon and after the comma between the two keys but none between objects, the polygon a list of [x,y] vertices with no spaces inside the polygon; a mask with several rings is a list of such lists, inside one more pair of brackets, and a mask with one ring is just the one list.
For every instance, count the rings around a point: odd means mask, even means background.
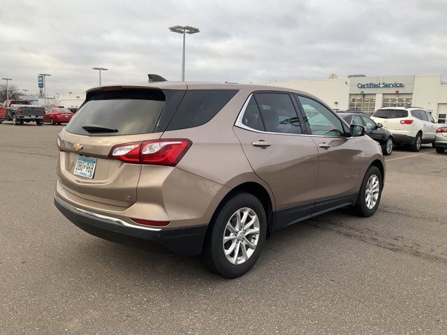
[{"label": "black car parked between the tan SUV's hood and white SUV", "polygon": [[390,155],[393,152],[393,135],[383,128],[382,124],[376,124],[372,119],[362,112],[338,111],[340,117],[348,124],[357,124],[365,126],[366,135],[379,142],[384,155]]}]

